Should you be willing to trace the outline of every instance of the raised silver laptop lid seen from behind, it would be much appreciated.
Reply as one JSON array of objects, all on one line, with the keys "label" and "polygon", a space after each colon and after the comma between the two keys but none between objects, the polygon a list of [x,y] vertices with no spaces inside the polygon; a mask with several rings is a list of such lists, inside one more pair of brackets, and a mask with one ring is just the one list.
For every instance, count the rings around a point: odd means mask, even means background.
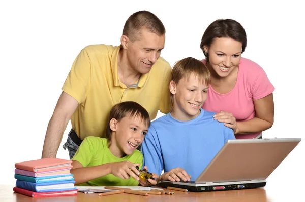
[{"label": "raised silver laptop lid seen from behind", "polygon": [[195,183],[265,180],[301,138],[228,140]]}]

